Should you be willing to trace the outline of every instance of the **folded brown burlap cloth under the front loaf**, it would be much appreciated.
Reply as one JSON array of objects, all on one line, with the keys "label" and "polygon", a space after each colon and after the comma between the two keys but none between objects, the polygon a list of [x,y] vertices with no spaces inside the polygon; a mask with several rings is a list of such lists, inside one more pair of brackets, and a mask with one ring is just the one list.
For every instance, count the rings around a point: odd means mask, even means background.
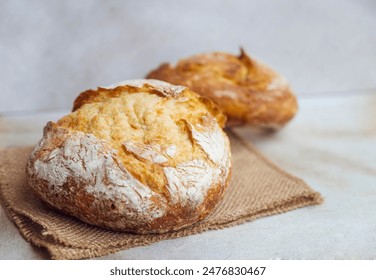
[{"label": "folded brown burlap cloth under the front loaf", "polygon": [[52,259],[83,259],[230,227],[322,202],[320,194],[302,180],[276,167],[233,132],[229,136],[233,171],[224,199],[205,220],[177,232],[151,235],[113,232],[51,210],[30,192],[26,183],[25,164],[31,147],[0,151],[1,204],[24,238],[45,247]]}]

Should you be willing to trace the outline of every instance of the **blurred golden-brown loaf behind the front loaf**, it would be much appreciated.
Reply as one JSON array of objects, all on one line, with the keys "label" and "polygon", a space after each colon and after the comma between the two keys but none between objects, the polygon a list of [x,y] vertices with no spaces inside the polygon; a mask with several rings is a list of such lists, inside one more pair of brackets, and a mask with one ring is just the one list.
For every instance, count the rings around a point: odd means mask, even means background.
[{"label": "blurred golden-brown loaf behind the front loaf", "polygon": [[297,111],[286,79],[243,49],[239,56],[223,52],[200,54],[162,64],[147,78],[184,85],[212,99],[227,115],[228,126],[279,128]]}]

